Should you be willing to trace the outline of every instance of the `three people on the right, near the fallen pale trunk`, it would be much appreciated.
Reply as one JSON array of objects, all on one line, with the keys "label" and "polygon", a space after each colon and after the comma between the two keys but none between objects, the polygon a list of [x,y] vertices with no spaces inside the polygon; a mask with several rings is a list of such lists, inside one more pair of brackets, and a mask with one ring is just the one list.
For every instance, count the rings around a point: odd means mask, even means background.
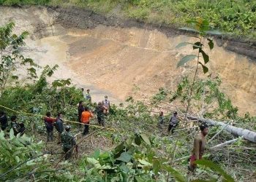
[{"label": "three people on the right, near the fallen pale trunk", "polygon": [[[178,116],[177,112],[175,111],[173,115],[170,117],[167,132],[170,131],[173,133],[175,128],[178,126]],[[162,111],[159,112],[159,127],[162,127],[164,124],[165,118],[164,113]],[[192,155],[189,157],[189,167],[188,169],[192,172],[195,171],[196,163],[195,161],[198,159],[202,159],[204,151],[206,149],[206,135],[208,135],[208,125],[206,123],[201,123],[200,132],[195,135],[194,144],[192,147]]]}]

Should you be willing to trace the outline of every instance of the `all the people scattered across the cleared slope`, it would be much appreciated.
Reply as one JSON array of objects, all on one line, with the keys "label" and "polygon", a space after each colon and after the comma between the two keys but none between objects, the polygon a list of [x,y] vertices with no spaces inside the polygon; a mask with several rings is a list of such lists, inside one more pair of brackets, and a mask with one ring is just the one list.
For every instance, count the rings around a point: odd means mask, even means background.
[{"label": "all the people scattered across the cleared slope", "polygon": [[[82,89],[83,91],[83,89]],[[84,98],[91,103],[91,95],[90,90],[87,90]],[[99,126],[105,127],[105,116],[108,116],[110,111],[110,101],[108,100],[108,95],[105,95],[104,100],[99,102],[94,111],[89,110],[87,106],[83,106],[84,103],[81,100],[78,103],[78,122],[80,122],[80,126],[84,125],[83,135],[89,134],[89,124],[91,117],[94,117],[94,114],[97,114],[97,121]],[[75,136],[73,136],[70,132],[71,127],[66,125],[64,127],[64,121],[62,119],[62,114],[59,113],[56,118],[51,117],[50,112],[47,112],[44,116],[45,128],[47,132],[47,141],[53,141],[53,129],[56,128],[58,132],[58,144],[61,143],[63,146],[63,150],[65,152],[65,159],[69,159],[72,157],[72,149],[76,145]],[[13,115],[10,117],[11,123],[10,126],[13,129],[14,135],[23,135],[25,132],[25,126],[22,122],[17,122],[17,116]],[[169,124],[167,128],[167,132],[174,132],[176,127],[178,126],[178,113],[175,111],[173,115],[169,119]],[[159,112],[159,126],[162,127],[164,124],[165,118],[162,111]],[[1,130],[6,130],[9,126],[8,118],[4,111],[0,111],[0,123]],[[205,123],[200,124],[200,132],[195,135],[195,140],[192,149],[192,155],[189,157],[190,165],[189,170],[194,171],[196,168],[195,161],[197,159],[201,159],[203,157],[203,153],[206,149],[206,135],[208,134],[208,125]]]}]

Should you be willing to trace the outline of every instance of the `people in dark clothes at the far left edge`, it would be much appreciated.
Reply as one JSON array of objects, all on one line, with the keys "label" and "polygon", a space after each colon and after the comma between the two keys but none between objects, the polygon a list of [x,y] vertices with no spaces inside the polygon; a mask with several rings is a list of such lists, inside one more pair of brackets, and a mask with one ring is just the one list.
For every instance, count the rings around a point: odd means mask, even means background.
[{"label": "people in dark clothes at the far left edge", "polygon": [[20,133],[20,135],[23,135],[26,130],[23,122],[17,122],[16,115],[11,116],[10,120],[11,120],[11,122],[10,122],[10,127],[9,127],[7,115],[4,113],[4,111],[0,111],[1,130],[4,131],[4,130],[8,130],[8,129],[12,128],[15,136],[17,136],[18,133]]}]

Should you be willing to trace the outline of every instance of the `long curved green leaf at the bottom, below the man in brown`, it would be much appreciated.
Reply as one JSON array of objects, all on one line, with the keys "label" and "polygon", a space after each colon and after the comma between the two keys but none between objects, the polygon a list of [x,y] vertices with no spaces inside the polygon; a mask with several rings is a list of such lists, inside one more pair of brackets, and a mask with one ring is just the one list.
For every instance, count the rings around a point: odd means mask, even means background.
[{"label": "long curved green leaf at the bottom, below the man in brown", "polygon": [[230,176],[228,175],[225,170],[222,170],[221,167],[219,167],[218,165],[214,164],[214,162],[211,162],[209,160],[206,160],[206,159],[200,159],[200,160],[197,160],[195,162],[197,165],[203,165],[205,167],[210,167],[211,170],[214,170],[215,172],[221,174],[226,181],[229,181],[229,182],[235,182],[235,180]]}]

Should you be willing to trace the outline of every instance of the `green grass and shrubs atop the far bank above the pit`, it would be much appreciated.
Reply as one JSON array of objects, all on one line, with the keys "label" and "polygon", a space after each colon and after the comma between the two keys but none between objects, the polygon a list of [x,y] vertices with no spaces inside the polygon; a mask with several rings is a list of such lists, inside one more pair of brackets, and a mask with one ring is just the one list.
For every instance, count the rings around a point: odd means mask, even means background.
[{"label": "green grass and shrubs atop the far bank above the pit", "polygon": [[83,7],[176,27],[202,17],[230,36],[256,37],[256,1],[250,0],[0,0],[0,4]]}]

